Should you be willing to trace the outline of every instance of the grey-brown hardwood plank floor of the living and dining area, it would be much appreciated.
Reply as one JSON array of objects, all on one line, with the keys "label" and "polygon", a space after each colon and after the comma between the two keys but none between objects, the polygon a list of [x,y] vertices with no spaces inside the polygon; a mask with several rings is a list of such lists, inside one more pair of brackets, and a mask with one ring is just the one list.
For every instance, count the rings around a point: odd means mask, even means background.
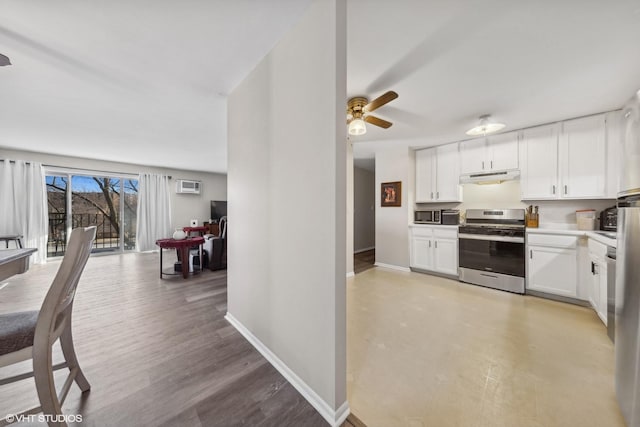
[{"label": "grey-brown hardwood plank floor of the living and dining area", "polygon": [[[171,265],[168,252],[165,257]],[[160,280],[158,264],[158,254],[89,259],[73,328],[92,388],[81,396],[74,385],[65,414],[81,414],[78,425],[100,427],[328,425],[223,318],[225,271]],[[0,313],[40,308],[58,265],[14,276],[0,290]],[[56,351],[54,362],[61,360]],[[29,370],[25,362],[0,376]],[[58,389],[64,374],[56,374]],[[37,402],[32,380],[0,388],[0,416]]]}]

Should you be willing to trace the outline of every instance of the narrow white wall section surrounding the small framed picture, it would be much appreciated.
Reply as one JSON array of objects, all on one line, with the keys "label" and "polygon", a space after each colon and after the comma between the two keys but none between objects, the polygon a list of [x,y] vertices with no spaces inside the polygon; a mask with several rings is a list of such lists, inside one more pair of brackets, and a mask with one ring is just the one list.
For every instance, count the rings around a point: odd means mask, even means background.
[{"label": "narrow white wall section surrounding the small framed picture", "polygon": [[[409,212],[413,210],[415,157],[407,148],[376,152],[376,265],[409,268]],[[380,184],[402,181],[402,206],[380,206]],[[409,191],[411,190],[411,191]]]}]

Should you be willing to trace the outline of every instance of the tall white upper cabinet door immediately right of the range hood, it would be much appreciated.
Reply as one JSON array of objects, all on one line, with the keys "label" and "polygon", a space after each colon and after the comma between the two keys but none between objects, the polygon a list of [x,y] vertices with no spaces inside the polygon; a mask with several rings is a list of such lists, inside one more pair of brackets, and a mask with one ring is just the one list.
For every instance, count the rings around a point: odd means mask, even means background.
[{"label": "tall white upper cabinet door immediately right of the range hood", "polygon": [[520,186],[522,199],[543,200],[559,197],[558,127],[525,129],[520,140]]}]

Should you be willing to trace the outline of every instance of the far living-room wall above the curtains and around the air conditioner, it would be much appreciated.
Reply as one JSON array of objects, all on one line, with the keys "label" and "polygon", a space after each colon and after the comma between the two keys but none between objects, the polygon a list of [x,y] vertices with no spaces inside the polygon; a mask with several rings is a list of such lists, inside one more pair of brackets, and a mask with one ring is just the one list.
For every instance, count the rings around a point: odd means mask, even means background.
[{"label": "far living-room wall above the curtains and around the air conditioner", "polygon": [[[123,156],[125,157],[125,156]],[[117,173],[158,173],[170,175],[171,180],[171,223],[174,227],[189,225],[189,220],[207,221],[211,212],[211,200],[227,199],[227,176],[210,172],[197,172],[158,168],[131,163],[107,162],[80,157],[57,156],[31,151],[10,150],[0,147],[0,159],[40,162],[49,166],[88,169]],[[202,191],[198,195],[176,194],[176,179],[202,181]],[[167,236],[169,237],[169,236]]]}]

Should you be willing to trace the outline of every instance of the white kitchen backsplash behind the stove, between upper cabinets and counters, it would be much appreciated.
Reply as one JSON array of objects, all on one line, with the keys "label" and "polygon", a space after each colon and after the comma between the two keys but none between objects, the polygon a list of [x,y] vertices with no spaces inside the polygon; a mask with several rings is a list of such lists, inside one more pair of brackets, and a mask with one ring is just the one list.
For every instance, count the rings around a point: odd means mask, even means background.
[{"label": "white kitchen backsplash behind the stove, between upper cabinets and counters", "polygon": [[502,184],[464,184],[463,203],[417,204],[417,209],[526,209],[529,205],[540,207],[540,227],[550,224],[573,225],[576,210],[595,209],[596,213],[616,204],[615,200],[538,200],[524,203],[520,201],[520,181]]}]

